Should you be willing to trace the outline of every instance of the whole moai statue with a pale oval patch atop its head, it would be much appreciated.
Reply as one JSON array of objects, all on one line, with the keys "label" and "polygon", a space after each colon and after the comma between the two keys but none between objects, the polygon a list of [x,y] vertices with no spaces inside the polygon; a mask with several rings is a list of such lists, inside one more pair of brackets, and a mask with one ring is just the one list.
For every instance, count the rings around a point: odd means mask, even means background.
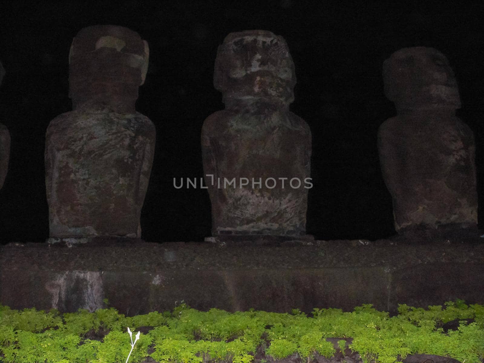
[{"label": "whole moai statue with a pale oval patch atop its head", "polygon": [[91,26],[74,38],[74,110],[50,122],[45,140],[49,242],[140,238],[155,128],[135,102],[148,57],[148,43],[126,28]]}]

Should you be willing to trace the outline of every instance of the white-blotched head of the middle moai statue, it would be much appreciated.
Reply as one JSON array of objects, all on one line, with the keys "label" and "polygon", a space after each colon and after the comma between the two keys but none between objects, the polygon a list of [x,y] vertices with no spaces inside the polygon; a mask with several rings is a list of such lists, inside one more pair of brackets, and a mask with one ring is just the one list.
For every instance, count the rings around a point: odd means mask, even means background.
[{"label": "white-blotched head of the middle moai statue", "polygon": [[296,74],[286,41],[266,30],[230,33],[218,47],[213,84],[224,99],[290,104]]}]

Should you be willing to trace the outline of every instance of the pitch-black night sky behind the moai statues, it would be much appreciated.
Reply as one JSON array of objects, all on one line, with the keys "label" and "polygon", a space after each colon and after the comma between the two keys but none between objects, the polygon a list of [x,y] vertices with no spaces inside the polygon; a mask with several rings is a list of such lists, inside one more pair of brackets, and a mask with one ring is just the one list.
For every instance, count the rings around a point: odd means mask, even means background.
[{"label": "pitch-black night sky behind the moai statues", "polygon": [[[378,126],[396,112],[383,94],[382,62],[407,46],[433,46],[451,62],[462,108],[457,115],[483,153],[482,1],[0,1],[0,122],[12,136],[0,191],[0,239],[45,241],[45,130],[71,110],[68,54],[80,29],[114,24],[150,45],[137,110],[156,125],[156,153],[141,224],[147,241],[202,241],[210,235],[204,189],[175,189],[173,178],[203,176],[203,120],[223,109],[212,85],[217,46],[232,31],[282,35],[296,65],[291,110],[313,133],[314,187],[307,231],[317,239],[392,235],[390,195],[376,147]],[[477,162],[482,201],[483,165]],[[482,203],[480,203],[482,204]],[[482,208],[480,208],[482,214]],[[482,221],[483,218],[480,218]],[[480,224],[482,226],[482,222]]]}]

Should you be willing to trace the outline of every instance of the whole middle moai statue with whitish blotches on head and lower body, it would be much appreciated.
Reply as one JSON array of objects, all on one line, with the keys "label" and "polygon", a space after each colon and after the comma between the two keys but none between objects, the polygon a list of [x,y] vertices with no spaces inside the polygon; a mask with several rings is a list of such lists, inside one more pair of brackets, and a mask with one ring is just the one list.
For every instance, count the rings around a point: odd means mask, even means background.
[{"label": "whole middle moai statue with whitish blotches on head and lower body", "polygon": [[286,41],[265,30],[230,33],[218,48],[213,83],[225,110],[202,128],[212,202],[207,240],[310,239],[311,131],[289,111],[296,76]]}]

